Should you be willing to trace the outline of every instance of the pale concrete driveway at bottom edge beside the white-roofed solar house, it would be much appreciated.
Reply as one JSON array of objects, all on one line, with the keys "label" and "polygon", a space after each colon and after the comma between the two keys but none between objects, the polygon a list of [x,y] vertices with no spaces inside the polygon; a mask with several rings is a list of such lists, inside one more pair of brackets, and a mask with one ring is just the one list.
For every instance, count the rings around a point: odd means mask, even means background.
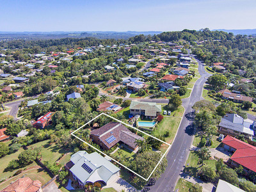
[{"label": "pale concrete driveway at bottom edge beside the white-roofed solar house", "polygon": [[131,184],[126,182],[124,179],[122,179],[119,176],[116,176],[114,178],[111,178],[108,181],[108,185],[104,186],[103,189],[105,188],[114,188],[116,191],[121,191],[124,189],[125,192],[136,192],[136,188],[134,188]]}]

